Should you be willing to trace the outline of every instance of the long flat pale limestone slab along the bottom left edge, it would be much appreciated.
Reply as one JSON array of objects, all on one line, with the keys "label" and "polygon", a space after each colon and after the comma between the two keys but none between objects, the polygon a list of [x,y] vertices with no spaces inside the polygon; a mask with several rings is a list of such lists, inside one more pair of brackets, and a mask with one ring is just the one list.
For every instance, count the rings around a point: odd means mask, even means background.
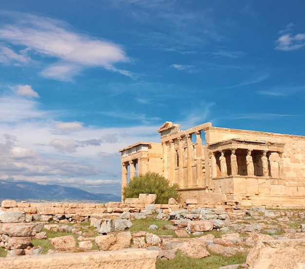
[{"label": "long flat pale limestone slab along the bottom left edge", "polygon": [[122,250],[0,258],[5,269],[155,269],[159,251]]}]

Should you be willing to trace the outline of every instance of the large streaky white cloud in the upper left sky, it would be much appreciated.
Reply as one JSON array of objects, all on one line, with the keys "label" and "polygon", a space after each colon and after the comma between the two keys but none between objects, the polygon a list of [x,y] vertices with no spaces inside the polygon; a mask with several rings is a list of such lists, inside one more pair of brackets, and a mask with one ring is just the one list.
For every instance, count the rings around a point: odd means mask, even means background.
[{"label": "large streaky white cloud in the upper left sky", "polygon": [[[69,25],[56,19],[12,12],[1,15],[15,18],[14,24],[6,24],[0,29],[1,40],[11,46],[21,45],[33,53],[58,60],[41,72],[43,76],[71,80],[88,67],[104,67],[130,76],[129,72],[114,67],[117,62],[129,61],[120,45],[77,33]],[[25,56],[12,49],[2,48],[0,61],[8,62],[9,59],[28,62]]]}]

